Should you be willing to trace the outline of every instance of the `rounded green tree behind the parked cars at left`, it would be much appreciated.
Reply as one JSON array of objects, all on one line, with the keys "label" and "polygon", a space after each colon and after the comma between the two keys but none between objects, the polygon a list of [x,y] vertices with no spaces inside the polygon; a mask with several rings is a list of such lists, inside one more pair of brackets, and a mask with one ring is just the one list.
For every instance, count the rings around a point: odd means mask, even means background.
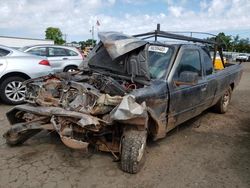
[{"label": "rounded green tree behind the parked cars at left", "polygon": [[48,27],[45,31],[45,38],[53,40],[55,44],[65,43],[65,40],[63,40],[63,34],[61,30],[56,27]]}]

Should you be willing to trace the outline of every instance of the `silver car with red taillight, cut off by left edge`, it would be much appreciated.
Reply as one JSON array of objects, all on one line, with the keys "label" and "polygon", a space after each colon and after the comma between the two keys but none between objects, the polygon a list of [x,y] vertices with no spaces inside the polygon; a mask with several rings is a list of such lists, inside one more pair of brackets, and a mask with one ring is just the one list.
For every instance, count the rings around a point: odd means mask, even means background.
[{"label": "silver car with red taillight, cut off by left edge", "polygon": [[8,104],[20,104],[25,98],[24,80],[53,73],[46,58],[0,45],[0,98]]}]

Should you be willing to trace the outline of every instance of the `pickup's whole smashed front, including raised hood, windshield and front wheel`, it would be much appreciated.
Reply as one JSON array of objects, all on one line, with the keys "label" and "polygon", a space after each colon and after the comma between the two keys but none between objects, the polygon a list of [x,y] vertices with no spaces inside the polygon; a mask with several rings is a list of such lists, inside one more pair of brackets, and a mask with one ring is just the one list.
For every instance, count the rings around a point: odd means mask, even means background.
[{"label": "pickup's whole smashed front, including raised hood, windshield and front wheel", "polygon": [[9,145],[48,130],[70,148],[92,145],[121,160],[122,170],[139,170],[148,135],[166,134],[168,88],[161,78],[173,50],[113,32],[100,39],[81,71],[24,83],[27,104],[6,114]]}]

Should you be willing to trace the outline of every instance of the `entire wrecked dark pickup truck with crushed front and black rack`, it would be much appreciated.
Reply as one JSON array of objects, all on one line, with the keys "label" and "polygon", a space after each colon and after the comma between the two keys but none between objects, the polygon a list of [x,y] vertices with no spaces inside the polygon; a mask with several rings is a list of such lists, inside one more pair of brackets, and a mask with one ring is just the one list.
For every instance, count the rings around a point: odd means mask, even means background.
[{"label": "entire wrecked dark pickup truck with crushed front and black rack", "polygon": [[[4,134],[7,144],[21,144],[42,130],[56,131],[66,146],[111,152],[123,171],[136,173],[147,138],[163,138],[209,107],[227,111],[242,67],[228,63],[215,70],[200,44],[216,43],[160,30],[99,37],[88,66],[79,72],[26,81],[27,104],[6,114],[11,124]],[[164,44],[157,37],[197,44]]]}]

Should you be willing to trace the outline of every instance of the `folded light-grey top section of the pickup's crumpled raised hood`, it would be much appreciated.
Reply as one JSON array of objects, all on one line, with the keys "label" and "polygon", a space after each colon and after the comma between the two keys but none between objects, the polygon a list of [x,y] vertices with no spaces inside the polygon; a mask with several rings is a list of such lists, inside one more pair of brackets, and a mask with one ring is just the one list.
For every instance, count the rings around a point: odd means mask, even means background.
[{"label": "folded light-grey top section of the pickup's crumpled raised hood", "polygon": [[98,37],[112,60],[147,44],[147,41],[119,32],[100,32]]}]

